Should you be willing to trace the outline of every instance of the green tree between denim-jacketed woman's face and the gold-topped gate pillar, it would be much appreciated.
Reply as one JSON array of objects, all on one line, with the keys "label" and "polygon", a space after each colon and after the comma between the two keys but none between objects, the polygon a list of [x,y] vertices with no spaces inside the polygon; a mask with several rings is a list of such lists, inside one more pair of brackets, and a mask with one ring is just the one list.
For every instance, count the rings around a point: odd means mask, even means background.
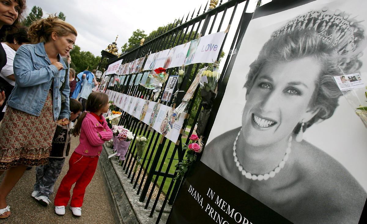
[{"label": "green tree between denim-jacketed woman's face and the gold-topped gate pillar", "polygon": [[75,45],[74,49],[70,51],[72,59],[71,68],[74,68],[77,73],[82,72],[88,68],[89,71],[97,69],[101,57],[95,57],[90,51],[81,51],[80,47]]}]

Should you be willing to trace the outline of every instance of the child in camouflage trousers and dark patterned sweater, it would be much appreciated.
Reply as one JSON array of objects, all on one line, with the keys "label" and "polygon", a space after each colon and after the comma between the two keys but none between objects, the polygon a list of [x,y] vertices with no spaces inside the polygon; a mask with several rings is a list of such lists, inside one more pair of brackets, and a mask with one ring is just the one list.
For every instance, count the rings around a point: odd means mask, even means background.
[{"label": "child in camouflage trousers and dark patterned sweater", "polygon": [[[82,109],[83,106],[79,101],[70,98],[70,120],[75,120]],[[65,157],[69,155],[71,125],[72,122],[68,126],[57,125],[48,163],[36,167],[36,183],[32,197],[43,206],[50,203],[55,182],[61,173]]]}]

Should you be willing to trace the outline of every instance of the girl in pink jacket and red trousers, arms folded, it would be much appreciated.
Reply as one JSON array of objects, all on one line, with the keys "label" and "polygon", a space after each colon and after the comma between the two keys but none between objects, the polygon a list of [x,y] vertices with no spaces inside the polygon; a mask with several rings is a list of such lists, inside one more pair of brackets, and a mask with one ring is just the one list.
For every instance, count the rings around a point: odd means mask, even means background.
[{"label": "girl in pink jacket and red trousers, arms folded", "polygon": [[70,189],[76,183],[70,210],[75,216],[81,216],[84,193],[97,168],[102,144],[110,140],[113,135],[106,119],[102,116],[108,108],[108,95],[101,92],[89,95],[87,111],[80,115],[74,129],[74,136],[80,134],[80,144],[70,156],[68,173],[62,179],[55,197],[55,212],[58,215],[65,214],[65,206],[70,200]]}]

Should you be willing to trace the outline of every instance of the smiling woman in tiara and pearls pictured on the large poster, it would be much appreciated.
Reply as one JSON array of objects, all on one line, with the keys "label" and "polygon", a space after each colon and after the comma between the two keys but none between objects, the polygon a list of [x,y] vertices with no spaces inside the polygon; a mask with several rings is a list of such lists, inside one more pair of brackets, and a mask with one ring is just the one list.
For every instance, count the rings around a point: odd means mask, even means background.
[{"label": "smiling woman in tiara and pearls pictured on the large poster", "polygon": [[363,30],[323,9],[273,32],[250,65],[241,127],[211,141],[201,161],[293,223],[358,223],[366,192],[302,137],[337,108],[333,76],[359,70]]}]

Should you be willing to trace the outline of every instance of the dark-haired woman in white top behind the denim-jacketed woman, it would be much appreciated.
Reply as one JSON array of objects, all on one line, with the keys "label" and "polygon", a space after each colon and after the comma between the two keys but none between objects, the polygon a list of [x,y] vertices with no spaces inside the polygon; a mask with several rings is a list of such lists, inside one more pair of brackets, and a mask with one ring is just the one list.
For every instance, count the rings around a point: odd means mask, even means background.
[{"label": "dark-haired woman in white top behind the denim-jacketed woman", "polygon": [[[6,42],[1,43],[6,52],[7,62],[0,72],[0,86],[3,90],[5,90],[6,100],[15,86],[15,76],[13,71],[15,52],[23,44],[28,44],[30,42],[27,32],[28,29],[24,26],[21,26],[18,28],[17,32],[8,33],[5,37]],[[5,104],[0,106],[0,121],[3,120],[4,117],[4,107]]]}]

